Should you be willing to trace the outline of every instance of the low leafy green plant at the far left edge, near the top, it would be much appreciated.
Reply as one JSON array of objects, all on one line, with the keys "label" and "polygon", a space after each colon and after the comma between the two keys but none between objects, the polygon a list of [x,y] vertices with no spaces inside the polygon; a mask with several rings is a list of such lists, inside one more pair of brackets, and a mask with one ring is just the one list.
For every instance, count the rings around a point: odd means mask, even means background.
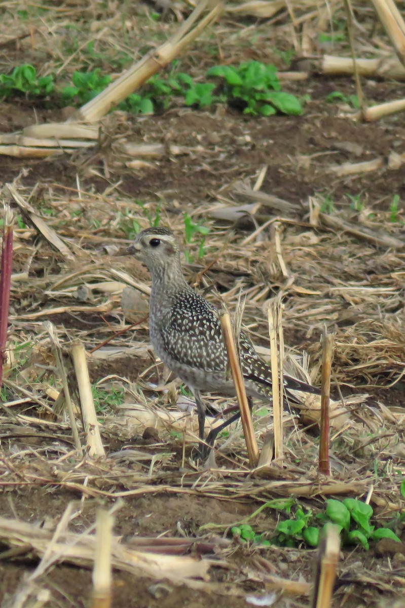
[{"label": "low leafy green plant at the far left edge, near the top", "polygon": [[24,94],[27,97],[46,97],[55,90],[53,75],[38,78],[35,67],[26,63],[16,66],[12,74],[0,74],[0,97]]}]

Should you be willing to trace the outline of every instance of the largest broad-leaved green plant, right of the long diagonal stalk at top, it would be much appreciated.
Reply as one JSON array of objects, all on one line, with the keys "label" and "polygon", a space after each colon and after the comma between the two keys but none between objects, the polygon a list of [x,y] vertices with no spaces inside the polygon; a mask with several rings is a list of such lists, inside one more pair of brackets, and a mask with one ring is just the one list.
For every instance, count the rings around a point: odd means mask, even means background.
[{"label": "largest broad-leaved green plant, right of the long diagonal stalk at top", "polygon": [[300,100],[281,90],[277,68],[272,64],[249,61],[238,67],[213,66],[207,76],[222,79],[221,100],[240,107],[244,114],[271,116],[277,111],[294,116],[302,114]]}]

